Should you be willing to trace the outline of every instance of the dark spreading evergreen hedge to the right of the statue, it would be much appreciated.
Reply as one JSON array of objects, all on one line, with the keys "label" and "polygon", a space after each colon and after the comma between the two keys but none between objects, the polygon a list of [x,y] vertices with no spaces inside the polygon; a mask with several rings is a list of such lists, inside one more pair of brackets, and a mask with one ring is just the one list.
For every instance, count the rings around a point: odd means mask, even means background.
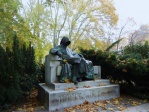
[{"label": "dark spreading evergreen hedge to the right of the statue", "polygon": [[[149,59],[138,52],[118,55],[102,50],[80,49],[85,58],[101,66],[101,77],[119,83],[121,93],[149,99]],[[149,51],[149,49],[148,49]]]}]

